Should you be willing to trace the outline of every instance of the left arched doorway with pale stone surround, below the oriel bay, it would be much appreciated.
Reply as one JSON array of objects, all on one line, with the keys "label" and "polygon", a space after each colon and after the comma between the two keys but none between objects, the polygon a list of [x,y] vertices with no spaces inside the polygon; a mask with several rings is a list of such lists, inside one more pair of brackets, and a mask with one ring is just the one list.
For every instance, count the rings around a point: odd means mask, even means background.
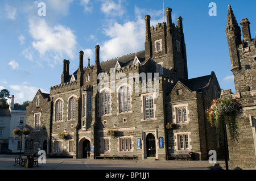
[{"label": "left arched doorway with pale stone surround, below the oriel bay", "polygon": [[82,137],[79,140],[78,158],[89,158],[90,157],[90,138]]}]

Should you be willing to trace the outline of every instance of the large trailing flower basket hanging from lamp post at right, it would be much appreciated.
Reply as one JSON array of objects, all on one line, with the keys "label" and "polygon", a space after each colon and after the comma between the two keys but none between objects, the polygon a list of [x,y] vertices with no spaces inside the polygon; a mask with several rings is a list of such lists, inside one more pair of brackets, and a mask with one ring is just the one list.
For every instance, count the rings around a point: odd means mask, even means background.
[{"label": "large trailing flower basket hanging from lamp post at right", "polygon": [[229,128],[231,140],[237,140],[238,126],[236,117],[243,113],[243,108],[238,100],[229,97],[214,99],[212,106],[205,113],[210,124],[217,124],[217,131],[220,138],[224,137],[223,121],[225,121]]}]

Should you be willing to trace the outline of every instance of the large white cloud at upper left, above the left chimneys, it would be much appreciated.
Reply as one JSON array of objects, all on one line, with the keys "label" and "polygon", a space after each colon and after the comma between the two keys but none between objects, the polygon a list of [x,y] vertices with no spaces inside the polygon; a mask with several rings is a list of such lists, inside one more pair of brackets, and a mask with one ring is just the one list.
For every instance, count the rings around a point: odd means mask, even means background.
[{"label": "large white cloud at upper left, above the left chimneys", "polygon": [[[48,64],[54,66],[56,62],[63,58],[74,58],[77,45],[76,36],[72,30],[62,25],[54,27],[48,26],[45,19],[29,19],[30,34],[34,41],[32,47],[35,48]],[[28,59],[30,54],[26,54]]]}]

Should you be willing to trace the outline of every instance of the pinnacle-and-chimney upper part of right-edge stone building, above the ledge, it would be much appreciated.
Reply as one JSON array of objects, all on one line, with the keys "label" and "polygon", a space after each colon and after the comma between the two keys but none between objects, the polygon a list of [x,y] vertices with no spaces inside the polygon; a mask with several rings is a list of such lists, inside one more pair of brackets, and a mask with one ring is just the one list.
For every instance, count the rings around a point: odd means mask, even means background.
[{"label": "pinnacle-and-chimney upper part of right-edge stone building, above the ledge", "polygon": [[228,6],[226,23],[226,38],[228,39],[231,71],[234,74],[236,92],[256,90],[256,57],[255,39],[251,39],[250,22],[245,18],[241,20],[241,29],[231,6]]}]

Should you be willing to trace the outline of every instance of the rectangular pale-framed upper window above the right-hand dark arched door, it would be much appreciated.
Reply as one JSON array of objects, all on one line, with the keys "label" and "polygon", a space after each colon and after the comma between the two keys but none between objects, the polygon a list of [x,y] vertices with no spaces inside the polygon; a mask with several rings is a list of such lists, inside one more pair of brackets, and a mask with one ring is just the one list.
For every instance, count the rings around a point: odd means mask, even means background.
[{"label": "rectangular pale-framed upper window above the right-hand dark arched door", "polygon": [[143,96],[144,120],[154,119],[154,98],[153,95]]}]

